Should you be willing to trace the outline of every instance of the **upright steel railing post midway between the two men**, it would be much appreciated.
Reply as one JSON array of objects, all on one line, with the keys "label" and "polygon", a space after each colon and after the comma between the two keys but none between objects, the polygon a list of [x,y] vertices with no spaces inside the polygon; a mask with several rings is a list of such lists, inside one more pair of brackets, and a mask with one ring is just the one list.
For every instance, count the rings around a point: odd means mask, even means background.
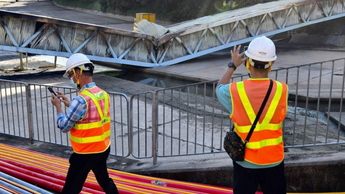
[{"label": "upright steel railing post midway between the two men", "polygon": [[158,130],[157,130],[157,96],[156,92],[152,93],[152,158],[153,165],[157,164],[158,152]]}]

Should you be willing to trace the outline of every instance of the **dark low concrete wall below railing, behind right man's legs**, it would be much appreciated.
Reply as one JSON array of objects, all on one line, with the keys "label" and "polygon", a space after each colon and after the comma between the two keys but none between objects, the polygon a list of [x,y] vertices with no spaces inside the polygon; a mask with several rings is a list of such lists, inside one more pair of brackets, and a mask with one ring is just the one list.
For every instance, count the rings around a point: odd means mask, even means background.
[{"label": "dark low concrete wall below railing, behind right man's legs", "polygon": [[[233,167],[189,169],[188,171],[133,172],[153,177],[232,187]],[[285,164],[288,192],[341,192],[345,184],[345,161]],[[260,188],[258,188],[260,190]]]}]

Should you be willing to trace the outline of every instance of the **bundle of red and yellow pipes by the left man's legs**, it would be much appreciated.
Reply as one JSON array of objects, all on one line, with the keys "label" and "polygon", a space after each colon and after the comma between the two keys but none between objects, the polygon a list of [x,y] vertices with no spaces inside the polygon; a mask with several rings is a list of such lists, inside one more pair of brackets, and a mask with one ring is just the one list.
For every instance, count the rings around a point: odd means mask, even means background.
[{"label": "bundle of red and yellow pipes by the left man's legs", "polygon": [[[0,172],[42,188],[60,192],[68,166],[66,159],[0,143]],[[112,169],[108,169],[108,172],[121,194],[232,193],[231,188],[227,187],[153,178]],[[166,182],[166,186],[151,183],[155,180]],[[92,172],[84,183],[82,193],[103,193]]]}]

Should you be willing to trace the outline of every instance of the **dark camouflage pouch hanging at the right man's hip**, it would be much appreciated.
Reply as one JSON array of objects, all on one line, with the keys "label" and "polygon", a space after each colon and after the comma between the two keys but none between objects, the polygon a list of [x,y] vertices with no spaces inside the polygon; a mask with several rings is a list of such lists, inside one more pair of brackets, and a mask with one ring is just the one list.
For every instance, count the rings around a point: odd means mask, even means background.
[{"label": "dark camouflage pouch hanging at the right man's hip", "polygon": [[223,147],[233,161],[244,161],[246,144],[243,143],[237,133],[233,131],[233,128],[234,127],[232,127],[231,131],[226,132]]}]

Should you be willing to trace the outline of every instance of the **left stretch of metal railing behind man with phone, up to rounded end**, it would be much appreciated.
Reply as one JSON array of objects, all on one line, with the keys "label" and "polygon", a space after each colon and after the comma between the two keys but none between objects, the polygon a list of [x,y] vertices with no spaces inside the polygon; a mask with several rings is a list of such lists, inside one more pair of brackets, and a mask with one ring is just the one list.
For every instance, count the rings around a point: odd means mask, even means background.
[{"label": "left stretch of metal railing behind man with phone, up to rounded end", "polygon": [[[56,126],[56,110],[50,102],[51,94],[47,87],[62,92],[69,99],[77,96],[77,91],[68,87],[0,80],[1,132],[26,137],[31,142],[37,140],[70,146],[69,133],[62,133]],[[111,101],[111,153],[128,157],[131,136],[129,99],[121,93],[108,94]],[[68,108],[62,107],[66,112]]]}]

